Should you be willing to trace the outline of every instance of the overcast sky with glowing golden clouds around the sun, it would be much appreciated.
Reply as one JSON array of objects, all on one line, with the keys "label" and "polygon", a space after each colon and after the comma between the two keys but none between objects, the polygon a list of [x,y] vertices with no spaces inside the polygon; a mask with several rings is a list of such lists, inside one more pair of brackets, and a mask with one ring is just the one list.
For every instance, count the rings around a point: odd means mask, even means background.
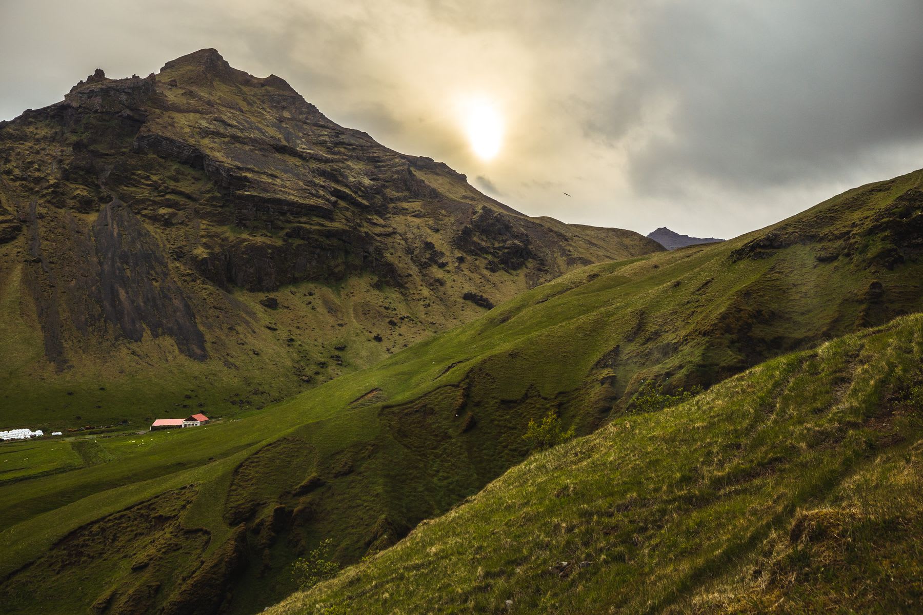
[{"label": "overcast sky with glowing golden clouds around the sun", "polygon": [[731,237],[923,168],[920,0],[0,0],[0,119],[204,47],[566,222]]}]

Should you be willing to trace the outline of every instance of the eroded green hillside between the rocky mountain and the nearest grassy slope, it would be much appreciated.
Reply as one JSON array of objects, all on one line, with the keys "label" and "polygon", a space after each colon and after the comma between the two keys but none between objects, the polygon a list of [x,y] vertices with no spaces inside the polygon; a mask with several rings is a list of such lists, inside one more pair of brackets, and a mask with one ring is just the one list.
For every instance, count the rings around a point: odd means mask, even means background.
[{"label": "eroded green hillside between the rocky mountain and the nearest grassy slope", "polygon": [[[0,597],[17,613],[254,612],[294,589],[291,562],[320,540],[355,562],[482,489],[549,410],[586,434],[634,420],[642,381],[707,386],[918,312],[921,176],[730,242],[585,267],[240,420],[99,450],[0,447]],[[110,526],[126,538],[111,544]]]}]

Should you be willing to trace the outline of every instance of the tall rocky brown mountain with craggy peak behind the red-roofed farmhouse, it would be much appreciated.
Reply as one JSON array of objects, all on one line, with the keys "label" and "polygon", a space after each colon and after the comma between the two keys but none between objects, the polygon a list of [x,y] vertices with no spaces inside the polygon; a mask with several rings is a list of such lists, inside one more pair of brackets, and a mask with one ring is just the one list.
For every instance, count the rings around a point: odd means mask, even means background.
[{"label": "tall rocky brown mountain with craggy peak behind the red-roofed farmhouse", "polygon": [[0,146],[0,394],[42,422],[261,405],[472,319],[466,293],[661,249],[524,216],[214,50],[97,70]]}]

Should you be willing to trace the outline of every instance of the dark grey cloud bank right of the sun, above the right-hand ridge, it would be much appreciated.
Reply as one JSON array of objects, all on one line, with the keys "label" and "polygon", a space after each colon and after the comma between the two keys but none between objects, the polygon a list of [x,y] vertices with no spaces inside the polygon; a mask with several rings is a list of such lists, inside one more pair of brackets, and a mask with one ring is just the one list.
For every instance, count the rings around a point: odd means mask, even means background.
[{"label": "dark grey cloud bank right of the sun, above the right-hand ridge", "polygon": [[923,5],[673,6],[641,51],[664,133],[630,160],[641,190],[696,176],[739,189],[828,179],[875,148],[919,141]]}]

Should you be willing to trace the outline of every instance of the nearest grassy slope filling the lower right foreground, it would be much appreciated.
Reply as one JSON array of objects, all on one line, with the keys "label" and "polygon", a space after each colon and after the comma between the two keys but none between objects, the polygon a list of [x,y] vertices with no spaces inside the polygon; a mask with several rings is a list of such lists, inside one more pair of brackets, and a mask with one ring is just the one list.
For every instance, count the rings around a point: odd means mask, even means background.
[{"label": "nearest grassy slope filling the lower right foreground", "polygon": [[769,361],[533,455],[270,612],[918,612],[921,364],[920,315]]}]

